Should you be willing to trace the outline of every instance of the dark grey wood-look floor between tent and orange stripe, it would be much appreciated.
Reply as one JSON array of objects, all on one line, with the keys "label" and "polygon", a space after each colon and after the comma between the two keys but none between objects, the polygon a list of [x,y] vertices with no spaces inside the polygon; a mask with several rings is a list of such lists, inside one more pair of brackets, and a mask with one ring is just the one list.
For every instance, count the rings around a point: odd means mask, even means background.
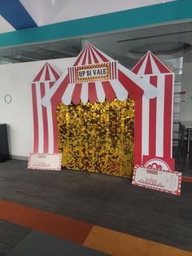
[{"label": "dark grey wood-look floor between tent and orange stripe", "polygon": [[26,161],[0,164],[0,200],[186,250],[192,250],[191,198],[191,183],[182,183],[181,196],[174,196],[103,174],[27,170]]}]

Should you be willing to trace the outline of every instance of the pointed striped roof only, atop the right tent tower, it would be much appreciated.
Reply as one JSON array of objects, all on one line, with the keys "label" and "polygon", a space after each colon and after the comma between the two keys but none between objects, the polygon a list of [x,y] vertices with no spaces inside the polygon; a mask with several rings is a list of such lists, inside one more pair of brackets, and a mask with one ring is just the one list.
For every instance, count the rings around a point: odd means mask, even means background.
[{"label": "pointed striped roof only, atop the right tent tower", "polygon": [[142,60],[136,64],[132,71],[137,75],[171,73],[171,71],[158,60],[151,51],[147,51],[146,55],[142,57]]}]

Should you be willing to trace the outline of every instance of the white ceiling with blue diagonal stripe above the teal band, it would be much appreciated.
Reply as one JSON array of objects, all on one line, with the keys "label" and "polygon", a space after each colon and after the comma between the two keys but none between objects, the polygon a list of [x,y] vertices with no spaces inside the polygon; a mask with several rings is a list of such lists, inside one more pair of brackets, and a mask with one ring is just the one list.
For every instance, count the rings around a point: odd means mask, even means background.
[{"label": "white ceiling with blue diagonal stripe above the teal band", "polygon": [[94,15],[166,4],[175,0],[1,0],[0,33]]}]

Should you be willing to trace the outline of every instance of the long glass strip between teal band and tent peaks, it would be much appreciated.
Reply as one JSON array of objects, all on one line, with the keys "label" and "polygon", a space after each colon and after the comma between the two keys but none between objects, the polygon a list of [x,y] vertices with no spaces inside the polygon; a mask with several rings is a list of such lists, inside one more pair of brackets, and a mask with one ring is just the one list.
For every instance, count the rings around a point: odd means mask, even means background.
[{"label": "long glass strip between teal band and tent peaks", "polygon": [[185,62],[192,62],[192,22],[187,21],[88,38],[0,48],[0,64],[76,57],[86,41],[129,68],[133,68],[149,50],[162,60],[184,56]]}]

